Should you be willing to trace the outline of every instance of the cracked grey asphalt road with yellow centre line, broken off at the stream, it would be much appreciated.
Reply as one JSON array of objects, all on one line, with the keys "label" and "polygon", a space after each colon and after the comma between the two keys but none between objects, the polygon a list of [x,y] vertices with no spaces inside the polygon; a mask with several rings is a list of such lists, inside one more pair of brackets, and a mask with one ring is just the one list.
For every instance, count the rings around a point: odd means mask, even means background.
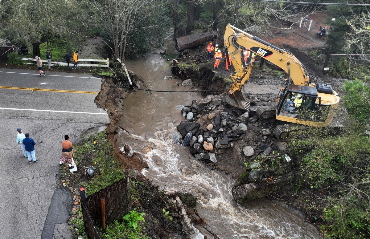
[{"label": "cracked grey asphalt road with yellow centre line, broken off at the stream", "polygon": [[[56,190],[61,156],[57,142],[68,134],[74,143],[87,129],[109,123],[108,115],[94,103],[96,93],[62,92],[98,92],[100,78],[47,70],[46,74],[37,77],[38,71],[0,68],[0,238],[73,238],[67,224],[68,190]],[[18,127],[36,141],[36,164],[28,163],[16,143]]]}]

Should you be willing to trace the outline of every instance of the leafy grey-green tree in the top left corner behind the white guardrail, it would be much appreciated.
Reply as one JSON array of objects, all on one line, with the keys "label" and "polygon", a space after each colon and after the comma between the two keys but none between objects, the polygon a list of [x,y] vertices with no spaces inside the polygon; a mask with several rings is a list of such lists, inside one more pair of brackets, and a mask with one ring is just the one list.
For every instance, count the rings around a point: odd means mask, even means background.
[{"label": "leafy grey-green tree in the top left corner behind the white guardrail", "polygon": [[[83,2],[84,3],[84,2]],[[33,55],[40,55],[40,44],[55,37],[72,35],[71,29],[86,26],[77,0],[6,0],[0,1],[0,34],[15,44],[30,42]],[[81,17],[82,14],[82,17]]]}]

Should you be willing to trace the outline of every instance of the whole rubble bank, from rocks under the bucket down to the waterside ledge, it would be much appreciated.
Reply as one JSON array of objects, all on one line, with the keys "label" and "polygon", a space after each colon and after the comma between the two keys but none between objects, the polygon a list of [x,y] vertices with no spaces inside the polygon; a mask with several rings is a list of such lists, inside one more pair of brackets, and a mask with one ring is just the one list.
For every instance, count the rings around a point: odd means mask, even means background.
[{"label": "whole rubble bank, from rocks under the bucket down to the waterside ledge", "polygon": [[286,183],[285,176],[292,178],[292,165],[282,157],[289,153],[288,144],[274,136],[275,119],[260,120],[253,111],[229,107],[224,96],[208,95],[181,106],[186,120],[177,126],[179,133],[173,133],[172,140],[189,146],[194,158],[210,170],[223,170],[235,178],[244,174],[246,180],[233,190],[237,200],[263,197]]}]

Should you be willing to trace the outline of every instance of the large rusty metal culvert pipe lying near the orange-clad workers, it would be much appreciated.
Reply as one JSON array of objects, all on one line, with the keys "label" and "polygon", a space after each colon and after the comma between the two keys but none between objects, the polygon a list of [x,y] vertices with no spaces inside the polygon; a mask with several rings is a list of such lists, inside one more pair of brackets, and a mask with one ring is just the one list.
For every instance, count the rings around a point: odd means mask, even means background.
[{"label": "large rusty metal culvert pipe lying near the orange-clad workers", "polygon": [[185,49],[193,48],[211,41],[216,35],[217,31],[212,31],[211,33],[190,34],[184,37],[178,37],[176,38],[175,47],[178,52],[184,51]]}]

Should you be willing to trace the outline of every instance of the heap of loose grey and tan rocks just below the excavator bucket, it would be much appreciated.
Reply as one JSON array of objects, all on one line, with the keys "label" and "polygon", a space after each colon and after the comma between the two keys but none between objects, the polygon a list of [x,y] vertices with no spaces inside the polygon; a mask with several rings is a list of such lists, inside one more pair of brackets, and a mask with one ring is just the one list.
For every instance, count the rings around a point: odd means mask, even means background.
[{"label": "heap of loose grey and tan rocks just below the excavator bucket", "polygon": [[193,100],[191,106],[182,107],[186,120],[181,122],[178,133],[172,135],[174,143],[181,140],[182,146],[189,146],[197,160],[217,162],[216,154],[223,154],[233,141],[242,138],[248,130],[249,112],[239,108],[226,108],[223,95],[208,95]]}]

